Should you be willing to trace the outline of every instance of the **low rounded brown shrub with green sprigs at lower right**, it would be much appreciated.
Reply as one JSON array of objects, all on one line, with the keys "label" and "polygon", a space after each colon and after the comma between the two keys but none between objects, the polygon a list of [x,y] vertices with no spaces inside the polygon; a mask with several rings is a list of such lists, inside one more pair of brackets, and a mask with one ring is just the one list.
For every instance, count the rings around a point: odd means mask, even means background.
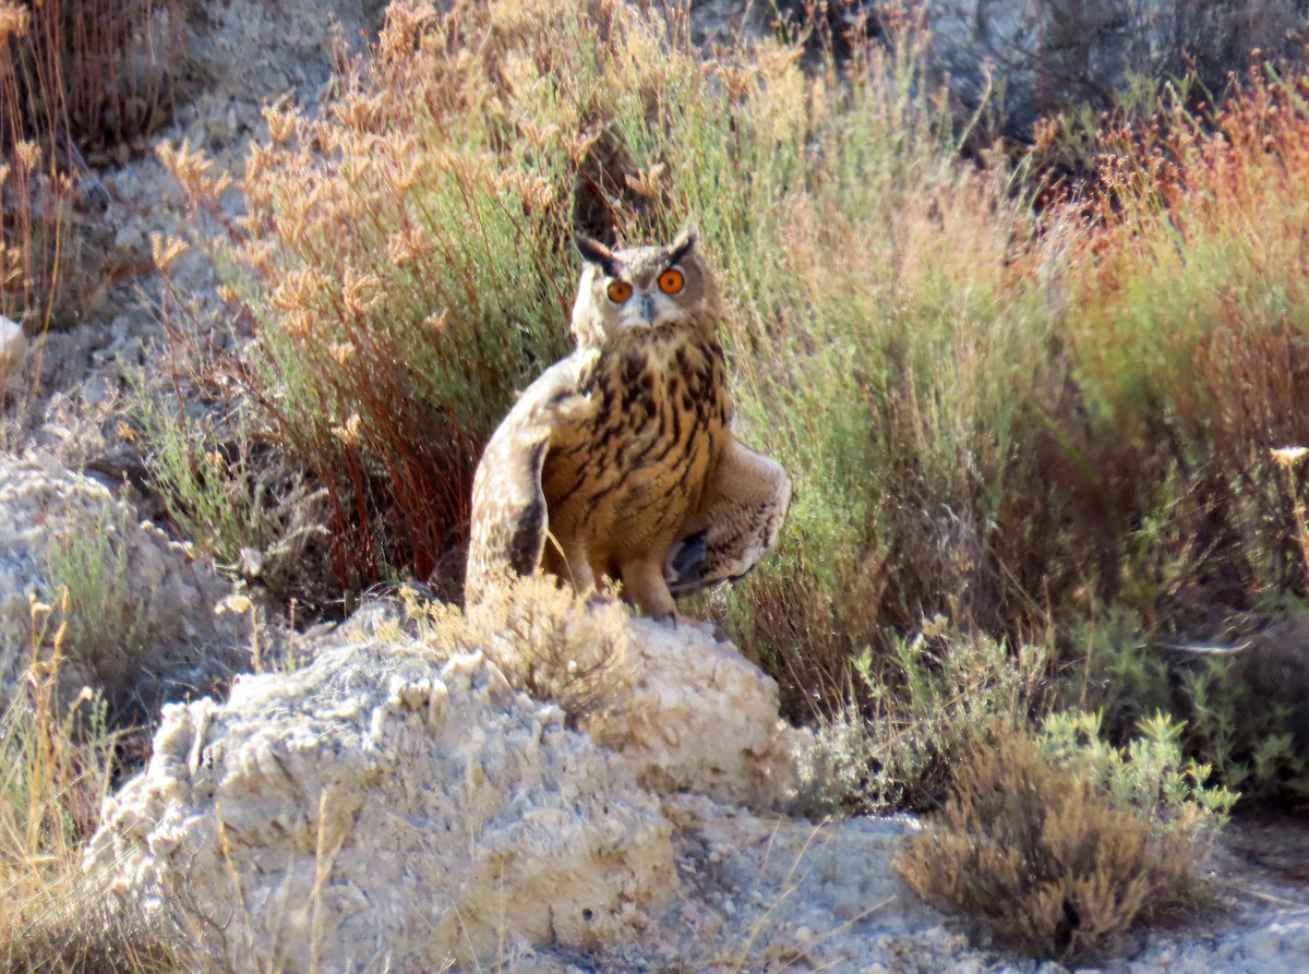
[{"label": "low rounded brown shrub with green sprigs at lower right", "polygon": [[897,869],[1017,949],[1064,960],[1202,905],[1196,859],[1236,796],[1206,787],[1208,770],[1182,761],[1165,717],[1126,751],[1098,730],[1098,717],[1066,713],[1039,733],[978,741]]}]

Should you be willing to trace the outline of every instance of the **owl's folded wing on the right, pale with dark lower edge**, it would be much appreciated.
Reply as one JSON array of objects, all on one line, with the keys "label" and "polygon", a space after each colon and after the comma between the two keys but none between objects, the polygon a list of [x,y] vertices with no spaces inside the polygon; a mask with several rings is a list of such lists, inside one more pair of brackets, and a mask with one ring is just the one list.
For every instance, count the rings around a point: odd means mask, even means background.
[{"label": "owl's folded wing on the right, pale with dark lower edge", "polygon": [[681,598],[749,575],[776,543],[789,507],[785,469],[733,437],[664,559],[669,592]]}]

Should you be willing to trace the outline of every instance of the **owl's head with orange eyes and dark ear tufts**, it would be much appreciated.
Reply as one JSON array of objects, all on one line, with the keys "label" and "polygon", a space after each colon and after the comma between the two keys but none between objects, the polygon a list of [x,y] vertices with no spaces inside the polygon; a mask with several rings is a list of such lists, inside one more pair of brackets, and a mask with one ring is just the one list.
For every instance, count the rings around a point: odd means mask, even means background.
[{"label": "owl's head with orange eyes and dark ear tufts", "polygon": [[723,317],[723,298],[695,226],[665,247],[610,250],[577,237],[584,270],[573,304],[572,333],[580,347],[686,327],[709,334]]}]

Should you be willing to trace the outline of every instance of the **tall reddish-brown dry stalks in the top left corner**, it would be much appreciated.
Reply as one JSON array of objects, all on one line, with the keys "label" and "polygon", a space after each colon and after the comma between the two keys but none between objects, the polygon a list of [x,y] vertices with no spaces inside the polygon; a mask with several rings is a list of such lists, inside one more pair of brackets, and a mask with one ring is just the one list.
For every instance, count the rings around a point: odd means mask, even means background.
[{"label": "tall reddish-brown dry stalks in the top left corner", "polygon": [[0,3],[0,314],[72,323],[123,275],[80,212],[88,164],[126,161],[171,117],[190,7]]}]

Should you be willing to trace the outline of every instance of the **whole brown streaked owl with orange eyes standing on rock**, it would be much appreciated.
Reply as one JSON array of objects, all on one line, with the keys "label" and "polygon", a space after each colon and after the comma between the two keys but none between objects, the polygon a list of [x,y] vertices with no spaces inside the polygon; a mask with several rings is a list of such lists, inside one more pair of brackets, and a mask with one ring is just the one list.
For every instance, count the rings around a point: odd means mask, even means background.
[{"label": "whole brown streaked owl with orange eyes standing on rock", "polygon": [[791,478],[732,433],[723,297],[694,226],[669,246],[579,237],[576,351],[521,395],[473,483],[465,597],[545,569],[579,593],[617,581],[644,615],[751,571]]}]

